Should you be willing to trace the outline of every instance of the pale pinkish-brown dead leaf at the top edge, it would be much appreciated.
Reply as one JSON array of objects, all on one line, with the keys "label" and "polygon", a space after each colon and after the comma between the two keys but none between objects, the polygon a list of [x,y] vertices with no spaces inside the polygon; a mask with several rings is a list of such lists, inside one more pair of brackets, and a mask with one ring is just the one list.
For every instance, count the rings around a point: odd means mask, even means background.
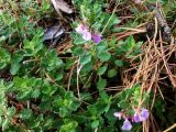
[{"label": "pale pinkish-brown dead leaf at the top edge", "polygon": [[65,13],[73,13],[73,9],[64,1],[64,0],[52,0],[52,3],[57,11],[58,15],[61,15],[61,11]]}]

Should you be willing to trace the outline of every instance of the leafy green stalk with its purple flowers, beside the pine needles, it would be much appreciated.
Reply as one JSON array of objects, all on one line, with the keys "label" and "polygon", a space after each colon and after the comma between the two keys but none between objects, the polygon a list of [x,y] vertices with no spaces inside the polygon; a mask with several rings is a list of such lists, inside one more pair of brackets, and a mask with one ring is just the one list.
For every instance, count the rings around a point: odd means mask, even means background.
[{"label": "leafy green stalk with its purple flowers, beside the pine needles", "polygon": [[[141,107],[141,109],[135,109],[139,108],[136,102],[140,102],[141,100],[141,87],[138,85],[125,89],[124,95],[128,97],[121,97],[121,101],[123,103],[119,103],[119,107],[122,108],[121,111],[114,112],[113,116],[118,118],[119,120],[124,120],[121,129],[125,131],[131,131],[132,125],[135,123],[144,122],[148,119],[150,112],[146,108]],[[146,97],[146,96],[143,96]],[[145,99],[143,99],[145,100]],[[127,107],[124,107],[124,103],[128,103]],[[144,106],[144,103],[143,103]],[[133,112],[131,112],[133,111]]]}]

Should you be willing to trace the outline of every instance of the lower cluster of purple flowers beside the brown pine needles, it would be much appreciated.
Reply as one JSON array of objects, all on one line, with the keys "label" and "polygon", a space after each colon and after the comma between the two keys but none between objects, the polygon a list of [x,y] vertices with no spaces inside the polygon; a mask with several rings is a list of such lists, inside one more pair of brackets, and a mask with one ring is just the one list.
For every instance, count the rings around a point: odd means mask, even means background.
[{"label": "lower cluster of purple flowers beside the brown pine needles", "polygon": [[[121,120],[123,118],[123,112],[114,112],[113,116],[119,118],[119,120]],[[150,116],[148,110],[142,108],[141,111],[135,112],[133,117],[124,118],[122,130],[130,131],[132,129],[132,124],[131,124],[130,120],[132,122],[138,123],[138,122],[145,121],[148,118],[148,116]]]}]

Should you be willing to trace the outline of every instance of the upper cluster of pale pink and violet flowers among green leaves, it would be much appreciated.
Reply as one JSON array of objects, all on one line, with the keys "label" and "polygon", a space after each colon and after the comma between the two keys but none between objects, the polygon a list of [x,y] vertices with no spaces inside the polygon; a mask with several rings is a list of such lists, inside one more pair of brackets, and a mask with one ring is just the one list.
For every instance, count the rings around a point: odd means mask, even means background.
[{"label": "upper cluster of pale pink and violet flowers among green leaves", "polygon": [[91,32],[88,30],[88,28],[84,24],[78,24],[78,26],[75,29],[77,33],[82,35],[82,38],[85,41],[94,41],[96,44],[101,42],[102,35],[100,34],[91,34]]}]

